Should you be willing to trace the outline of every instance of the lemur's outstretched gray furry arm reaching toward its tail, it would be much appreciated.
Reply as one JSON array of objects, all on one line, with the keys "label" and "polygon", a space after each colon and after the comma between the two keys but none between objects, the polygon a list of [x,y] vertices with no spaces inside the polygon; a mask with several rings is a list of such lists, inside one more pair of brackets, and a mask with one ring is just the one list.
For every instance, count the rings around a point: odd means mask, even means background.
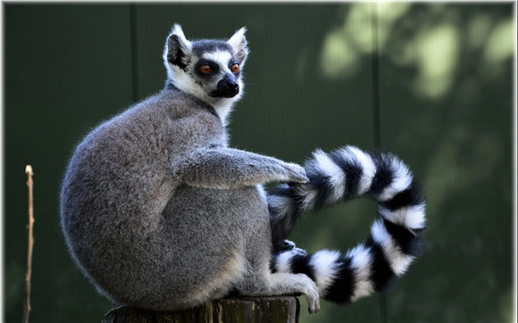
[{"label": "lemur's outstretched gray furry arm reaching toward its tail", "polygon": [[172,169],[188,186],[235,188],[271,181],[305,183],[305,170],[293,163],[233,148],[203,148],[174,162]]}]

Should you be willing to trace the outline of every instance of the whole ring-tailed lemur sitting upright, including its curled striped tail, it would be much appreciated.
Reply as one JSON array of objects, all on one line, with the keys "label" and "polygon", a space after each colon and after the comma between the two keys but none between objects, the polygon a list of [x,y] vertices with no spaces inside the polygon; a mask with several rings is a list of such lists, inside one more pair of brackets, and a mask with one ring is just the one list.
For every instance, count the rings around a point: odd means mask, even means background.
[{"label": "whole ring-tailed lemur sitting upright, including its curled striped tail", "polygon": [[[163,90],[104,121],[77,146],[60,196],[79,269],[116,304],[177,311],[235,293],[346,303],[384,289],[417,255],[424,199],[391,153],[347,146],[295,163],[229,147],[243,94],[246,29],[229,40],[167,37]],[[263,184],[282,182],[267,195]],[[285,240],[297,218],[359,196],[380,204],[371,236],[346,254]]]}]

